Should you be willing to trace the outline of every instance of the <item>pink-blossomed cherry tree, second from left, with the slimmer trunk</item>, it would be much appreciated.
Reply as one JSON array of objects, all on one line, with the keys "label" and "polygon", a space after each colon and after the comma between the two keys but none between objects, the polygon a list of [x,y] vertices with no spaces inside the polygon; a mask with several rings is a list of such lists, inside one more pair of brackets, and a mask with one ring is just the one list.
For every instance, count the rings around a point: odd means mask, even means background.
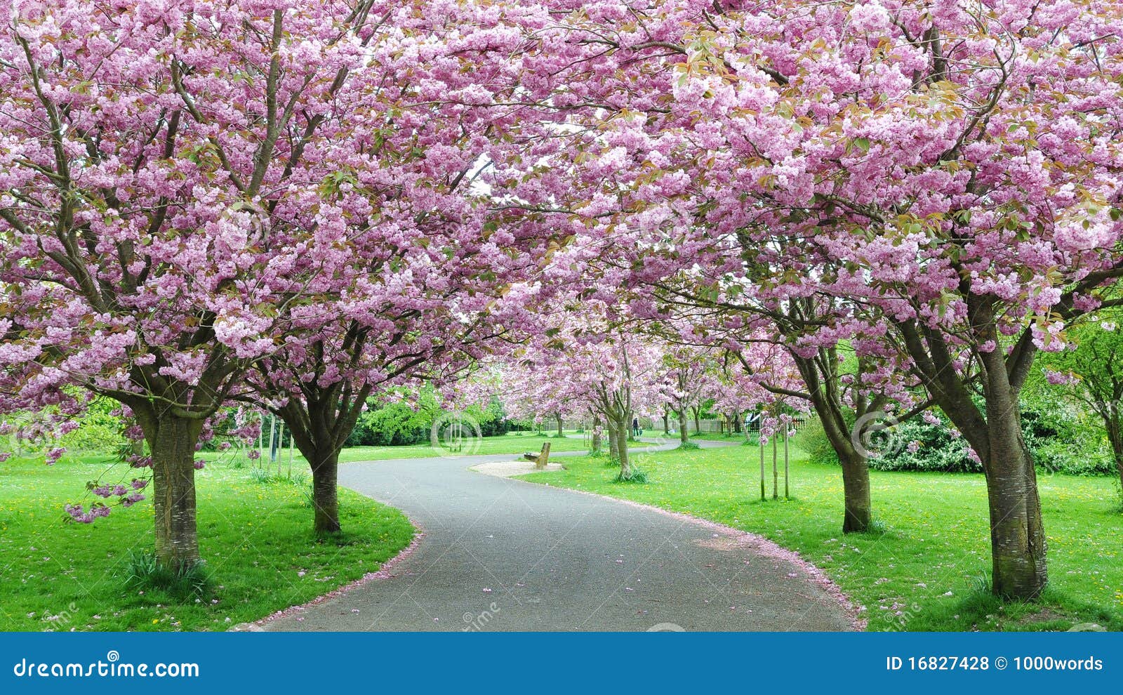
[{"label": "pink-blossomed cherry tree, second from left, with the slimmer trunk", "polygon": [[494,135],[513,118],[496,103],[519,84],[499,51],[503,26],[476,4],[449,8],[455,17],[387,8],[351,107],[380,127],[335,144],[335,184],[321,203],[343,212],[347,265],[293,310],[282,345],[239,396],[292,432],[321,533],[339,531],[339,450],[368,396],[483,357],[520,321],[517,303],[501,299],[547,250],[532,217],[499,207],[508,182],[492,174],[526,146]]}]

